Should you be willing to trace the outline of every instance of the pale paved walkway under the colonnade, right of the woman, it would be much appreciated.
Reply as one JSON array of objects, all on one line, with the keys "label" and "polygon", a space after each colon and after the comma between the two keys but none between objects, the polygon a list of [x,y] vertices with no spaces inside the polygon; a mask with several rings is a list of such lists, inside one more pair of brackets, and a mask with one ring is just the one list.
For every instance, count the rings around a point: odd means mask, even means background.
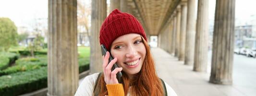
[{"label": "pale paved walkway under the colonnade, right of the woman", "polygon": [[161,48],[151,48],[151,52],[155,58],[158,76],[167,82],[178,96],[256,96],[256,83],[253,88],[239,88],[243,86],[235,84],[211,84],[208,82],[209,70],[194,72],[193,66],[184,65],[183,61],[178,61]]}]

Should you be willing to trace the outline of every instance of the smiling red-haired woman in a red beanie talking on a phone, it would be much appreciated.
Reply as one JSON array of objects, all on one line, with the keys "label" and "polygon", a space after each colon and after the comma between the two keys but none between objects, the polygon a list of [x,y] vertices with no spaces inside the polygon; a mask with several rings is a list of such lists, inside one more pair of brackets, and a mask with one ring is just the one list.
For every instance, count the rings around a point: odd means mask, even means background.
[{"label": "smiling red-haired woman in a red beanie talking on a phone", "polygon": [[[86,76],[75,96],[177,96],[158,78],[145,31],[134,16],[114,10],[102,24],[99,38],[110,51],[103,56],[103,73]],[[114,60],[108,63],[110,54]],[[119,68],[111,71],[114,63]],[[122,72],[122,83],[117,72]]]}]

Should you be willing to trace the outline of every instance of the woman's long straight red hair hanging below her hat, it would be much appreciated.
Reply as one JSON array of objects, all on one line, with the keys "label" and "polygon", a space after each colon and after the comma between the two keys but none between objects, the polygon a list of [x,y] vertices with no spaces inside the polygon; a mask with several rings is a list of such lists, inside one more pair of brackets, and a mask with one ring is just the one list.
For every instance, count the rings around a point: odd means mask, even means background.
[{"label": "woman's long straight red hair hanging below her hat", "polygon": [[[150,53],[150,48],[146,40],[143,37],[141,38],[146,48],[146,57],[141,71],[134,75],[134,80],[130,80],[128,75],[122,71],[122,85],[124,94],[127,96],[129,91],[131,96],[163,96],[164,92],[162,83],[157,76],[154,60]],[[129,90],[130,86],[132,87]],[[104,75],[100,76],[94,92],[98,92],[98,96],[108,95]]]}]

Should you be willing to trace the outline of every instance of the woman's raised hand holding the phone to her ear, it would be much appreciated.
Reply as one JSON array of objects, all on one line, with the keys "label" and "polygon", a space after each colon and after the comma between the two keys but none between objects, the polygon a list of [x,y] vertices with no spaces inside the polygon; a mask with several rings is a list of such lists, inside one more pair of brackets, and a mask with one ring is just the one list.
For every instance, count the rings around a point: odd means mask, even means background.
[{"label": "woman's raised hand holding the phone to her ear", "polygon": [[111,72],[111,68],[116,63],[117,58],[111,60],[110,63],[109,63],[109,58],[110,58],[110,52],[107,51],[106,56],[105,57],[103,56],[103,65],[102,65],[102,69],[104,72],[104,80],[106,84],[119,84],[116,78],[116,74],[117,72],[122,71],[122,67],[116,68]]}]

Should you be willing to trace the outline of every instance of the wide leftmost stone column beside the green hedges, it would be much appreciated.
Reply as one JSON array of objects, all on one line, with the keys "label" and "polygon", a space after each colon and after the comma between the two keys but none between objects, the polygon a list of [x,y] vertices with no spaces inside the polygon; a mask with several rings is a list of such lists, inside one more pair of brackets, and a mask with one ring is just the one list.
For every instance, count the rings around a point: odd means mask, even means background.
[{"label": "wide leftmost stone column beside the green hedges", "polygon": [[48,93],[73,96],[78,87],[76,0],[48,2]]}]

